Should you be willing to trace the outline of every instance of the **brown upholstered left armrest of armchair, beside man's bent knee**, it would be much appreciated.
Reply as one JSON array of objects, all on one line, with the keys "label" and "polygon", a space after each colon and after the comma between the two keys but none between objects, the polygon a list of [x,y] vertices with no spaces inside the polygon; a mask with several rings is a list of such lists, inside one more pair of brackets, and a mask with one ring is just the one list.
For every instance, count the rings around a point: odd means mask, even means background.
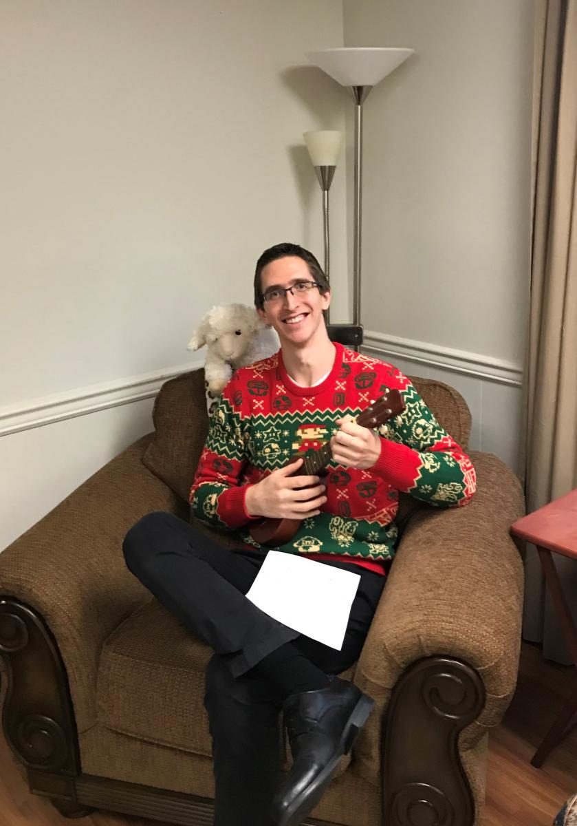
[{"label": "brown upholstered left armrest of armchair, beside man's bent knee", "polygon": [[80,732],[96,720],[103,643],[149,598],[125,567],[125,533],[151,510],[188,515],[187,503],[144,467],[149,440],[112,459],[0,553],[0,599],[45,619],[64,659]]}]

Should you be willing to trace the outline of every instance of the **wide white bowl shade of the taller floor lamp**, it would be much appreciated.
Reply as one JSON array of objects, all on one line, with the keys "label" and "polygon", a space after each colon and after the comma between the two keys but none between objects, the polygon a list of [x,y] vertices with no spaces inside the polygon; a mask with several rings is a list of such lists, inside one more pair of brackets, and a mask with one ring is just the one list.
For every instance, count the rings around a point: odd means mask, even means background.
[{"label": "wide white bowl shade of the taller floor lamp", "polygon": [[414,49],[344,47],[307,52],[306,57],[343,86],[376,86],[413,54]]}]

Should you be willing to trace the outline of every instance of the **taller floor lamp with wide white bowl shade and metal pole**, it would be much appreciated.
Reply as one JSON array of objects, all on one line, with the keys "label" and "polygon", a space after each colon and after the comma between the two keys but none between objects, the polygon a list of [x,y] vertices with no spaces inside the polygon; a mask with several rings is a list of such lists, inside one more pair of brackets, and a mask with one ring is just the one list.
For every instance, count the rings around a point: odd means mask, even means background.
[{"label": "taller floor lamp with wide white bowl shade and metal pole", "polygon": [[348,86],[355,101],[354,235],[352,260],[352,324],[361,327],[362,104],[376,83],[414,53],[414,49],[339,48],[307,52],[311,63]]}]

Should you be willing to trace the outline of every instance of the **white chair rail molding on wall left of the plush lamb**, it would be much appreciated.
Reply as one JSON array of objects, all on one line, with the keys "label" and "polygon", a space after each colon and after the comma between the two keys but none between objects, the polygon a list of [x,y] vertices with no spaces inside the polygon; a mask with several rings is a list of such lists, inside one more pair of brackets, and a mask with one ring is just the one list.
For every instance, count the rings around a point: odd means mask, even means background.
[{"label": "white chair rail molding on wall left of the plush lamb", "polygon": [[54,396],[43,396],[0,408],[0,436],[30,430],[33,427],[52,425],[54,422],[73,419],[108,407],[128,405],[156,396],[163,382],[202,366],[201,359],[178,367],[156,370],[140,376],[131,376],[115,382],[103,382],[89,387],[79,387]]}]

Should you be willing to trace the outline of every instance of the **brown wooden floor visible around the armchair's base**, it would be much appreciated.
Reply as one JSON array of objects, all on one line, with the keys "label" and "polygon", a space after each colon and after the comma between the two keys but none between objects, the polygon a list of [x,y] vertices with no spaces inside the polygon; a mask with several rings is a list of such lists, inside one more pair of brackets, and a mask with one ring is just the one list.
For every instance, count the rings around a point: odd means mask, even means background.
[{"label": "brown wooden floor visible around the armchair's base", "polygon": [[[575,690],[573,667],[543,662],[537,646],[523,643],[517,692],[490,738],[485,826],[551,826],[563,801],[577,791],[575,730],[551,753],[542,769],[529,763],[562,700]],[[47,800],[28,793],[1,736],[0,795],[0,826],[73,823],[61,817]],[[78,826],[153,826],[149,820],[103,812],[77,822]],[[154,823],[158,826],[158,821]]]}]

